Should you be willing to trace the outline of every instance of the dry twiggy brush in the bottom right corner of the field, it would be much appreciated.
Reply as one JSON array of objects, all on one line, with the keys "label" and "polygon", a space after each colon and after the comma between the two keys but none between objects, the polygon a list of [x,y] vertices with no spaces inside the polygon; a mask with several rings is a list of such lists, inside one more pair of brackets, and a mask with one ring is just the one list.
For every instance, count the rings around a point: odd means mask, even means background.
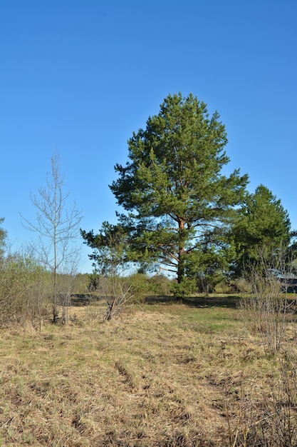
[{"label": "dry twiggy brush in the bottom right corner of the field", "polygon": [[279,356],[267,387],[241,378],[235,401],[226,401],[230,447],[296,447],[296,354]]}]

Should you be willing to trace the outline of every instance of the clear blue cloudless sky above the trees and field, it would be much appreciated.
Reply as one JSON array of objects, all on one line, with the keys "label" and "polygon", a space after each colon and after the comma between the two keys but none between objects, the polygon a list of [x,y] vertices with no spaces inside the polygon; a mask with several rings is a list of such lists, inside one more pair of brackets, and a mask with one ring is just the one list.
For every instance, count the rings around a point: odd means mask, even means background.
[{"label": "clear blue cloudless sky above the trees and field", "polygon": [[[32,238],[30,193],[56,147],[81,226],[115,222],[108,184],[168,94],[226,126],[230,169],[264,184],[297,228],[296,0],[1,0],[0,217]],[[87,247],[82,271],[91,271]]]}]

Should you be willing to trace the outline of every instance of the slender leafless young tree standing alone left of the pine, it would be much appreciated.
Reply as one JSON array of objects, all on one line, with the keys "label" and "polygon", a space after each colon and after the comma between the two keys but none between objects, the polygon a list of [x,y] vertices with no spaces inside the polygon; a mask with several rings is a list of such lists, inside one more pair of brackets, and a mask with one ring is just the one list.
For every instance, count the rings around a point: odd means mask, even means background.
[{"label": "slender leafless young tree standing alone left of the pine", "polygon": [[57,151],[51,158],[51,172],[46,188],[38,189],[38,196],[31,194],[36,207],[36,223],[23,216],[26,228],[36,231],[39,244],[36,258],[53,273],[53,322],[58,319],[58,273],[73,273],[78,264],[79,249],[75,240],[79,236],[81,212],[75,204],[68,208],[69,193],[64,193],[64,176],[61,175]]}]

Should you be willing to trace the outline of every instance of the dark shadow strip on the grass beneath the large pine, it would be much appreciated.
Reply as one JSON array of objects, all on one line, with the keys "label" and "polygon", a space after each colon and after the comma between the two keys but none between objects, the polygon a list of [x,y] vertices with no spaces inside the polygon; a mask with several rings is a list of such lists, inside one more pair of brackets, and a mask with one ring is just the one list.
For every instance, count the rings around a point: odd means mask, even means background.
[{"label": "dark shadow strip on the grass beneath the large pine", "polygon": [[179,299],[174,296],[147,296],[146,304],[183,304],[189,307],[229,307],[236,308],[241,297],[239,295],[187,296]]}]

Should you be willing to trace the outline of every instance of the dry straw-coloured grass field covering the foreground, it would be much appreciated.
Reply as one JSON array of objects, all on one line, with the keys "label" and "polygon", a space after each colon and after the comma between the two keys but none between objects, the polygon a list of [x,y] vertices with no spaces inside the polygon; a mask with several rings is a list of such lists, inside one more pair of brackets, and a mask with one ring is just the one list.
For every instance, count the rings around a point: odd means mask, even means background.
[{"label": "dry straw-coloured grass field covering the foreground", "polygon": [[268,358],[237,300],[3,329],[0,446],[296,446],[295,329]]}]

